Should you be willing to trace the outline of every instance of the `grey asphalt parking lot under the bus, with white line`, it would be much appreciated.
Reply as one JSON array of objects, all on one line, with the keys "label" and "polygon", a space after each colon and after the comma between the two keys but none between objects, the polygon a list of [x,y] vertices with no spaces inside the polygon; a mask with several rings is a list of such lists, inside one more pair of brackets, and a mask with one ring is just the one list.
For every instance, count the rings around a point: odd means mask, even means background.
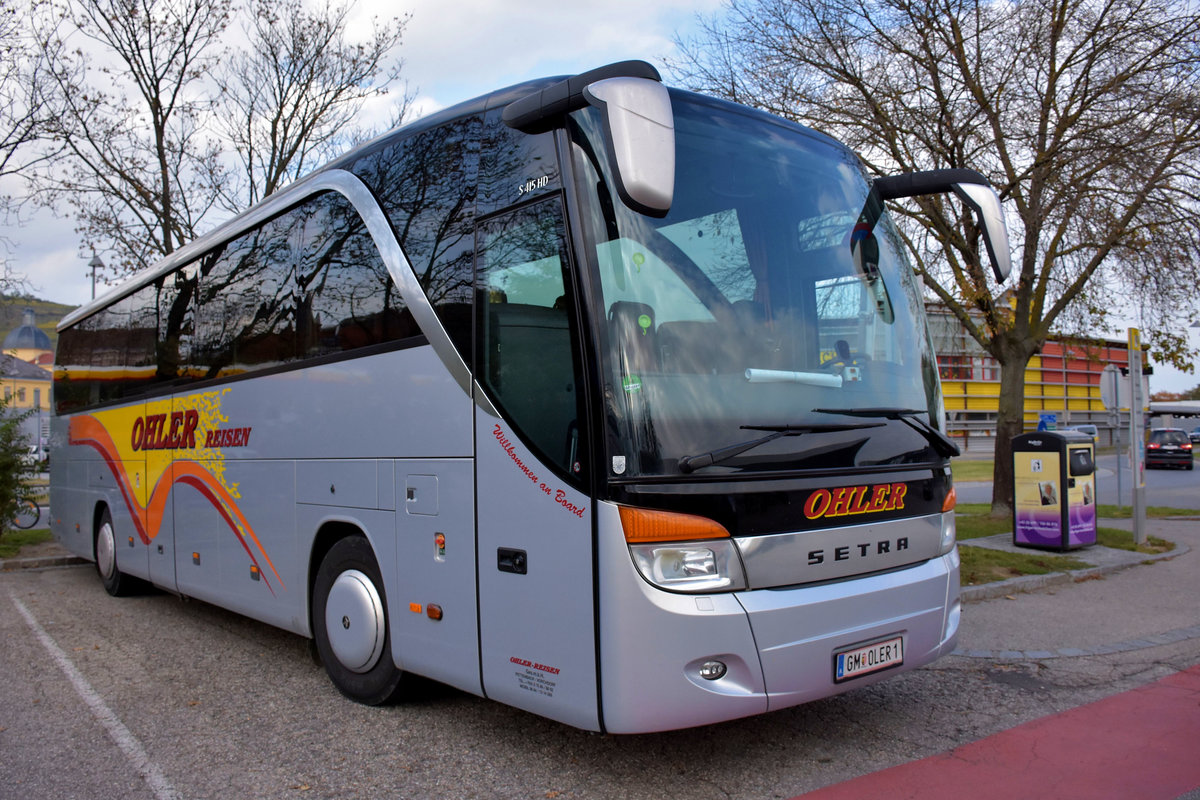
[{"label": "grey asphalt parking lot under the bus, with white line", "polygon": [[1200,533],[1157,524],[1189,549],[973,601],[959,652],[929,668],[641,736],[424,681],[408,703],[364,708],[270,626],[166,594],[112,599],[88,566],[0,573],[0,796],[797,796],[1200,663]]}]

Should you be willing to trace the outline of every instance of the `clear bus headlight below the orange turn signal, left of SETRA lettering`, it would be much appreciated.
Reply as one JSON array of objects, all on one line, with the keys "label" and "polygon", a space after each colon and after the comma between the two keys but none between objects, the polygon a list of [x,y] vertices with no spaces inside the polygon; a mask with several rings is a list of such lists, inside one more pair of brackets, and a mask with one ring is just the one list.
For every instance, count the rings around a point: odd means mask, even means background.
[{"label": "clear bus headlight below the orange turn signal, left of SETRA lettering", "polygon": [[668,591],[712,593],[746,588],[737,546],[731,539],[670,545],[630,545],[642,577]]}]

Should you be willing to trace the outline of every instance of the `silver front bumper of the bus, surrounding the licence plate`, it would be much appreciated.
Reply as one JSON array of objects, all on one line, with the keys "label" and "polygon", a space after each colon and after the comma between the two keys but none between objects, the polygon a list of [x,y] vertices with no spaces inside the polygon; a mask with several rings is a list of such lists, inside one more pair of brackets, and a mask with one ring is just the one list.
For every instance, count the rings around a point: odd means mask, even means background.
[{"label": "silver front bumper of the bus, surrounding the licence plate", "polygon": [[[607,504],[598,506],[606,517]],[[683,595],[647,583],[601,524],[600,680],[608,733],[649,733],[784,709],[866,686],[954,650],[958,549],[820,585]],[[605,535],[616,533],[613,535]],[[901,648],[902,661],[839,679],[839,652]],[[872,656],[874,657],[874,656]],[[864,658],[864,662],[866,660]],[[713,664],[724,674],[713,675]]]}]

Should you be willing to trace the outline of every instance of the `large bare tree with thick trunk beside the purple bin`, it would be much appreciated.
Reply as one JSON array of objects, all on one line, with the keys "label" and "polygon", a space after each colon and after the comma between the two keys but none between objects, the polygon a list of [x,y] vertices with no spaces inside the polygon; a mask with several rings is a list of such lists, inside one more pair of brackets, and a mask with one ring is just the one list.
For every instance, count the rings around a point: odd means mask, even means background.
[{"label": "large bare tree with thick trunk beside the purple bin", "polygon": [[1004,291],[964,209],[895,210],[928,291],[1001,365],[992,511],[1007,513],[1025,367],[1056,325],[1094,329],[1135,297],[1156,355],[1189,355],[1198,42],[1187,0],[728,0],[677,66],[835,136],[876,174],[971,167],[992,180],[1018,223]]}]

